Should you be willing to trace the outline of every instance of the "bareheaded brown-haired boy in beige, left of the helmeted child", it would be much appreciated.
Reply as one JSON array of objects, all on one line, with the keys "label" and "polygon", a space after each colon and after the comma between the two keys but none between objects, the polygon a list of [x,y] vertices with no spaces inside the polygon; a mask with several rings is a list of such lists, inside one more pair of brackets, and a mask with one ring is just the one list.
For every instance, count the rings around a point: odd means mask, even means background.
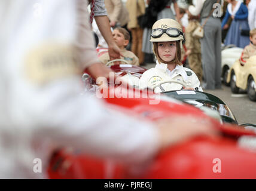
[{"label": "bareheaded brown-haired boy in beige, left of the helmeted child", "polygon": [[[131,51],[126,50],[126,46],[130,42],[129,32],[124,28],[118,27],[115,28],[112,34],[115,43],[121,50],[120,53],[123,55],[123,57],[121,56],[121,59],[128,61],[129,64],[139,66],[139,58],[136,57]],[[99,57],[99,60],[104,64],[108,63],[108,61],[110,61],[108,53],[102,54],[102,56]]]}]

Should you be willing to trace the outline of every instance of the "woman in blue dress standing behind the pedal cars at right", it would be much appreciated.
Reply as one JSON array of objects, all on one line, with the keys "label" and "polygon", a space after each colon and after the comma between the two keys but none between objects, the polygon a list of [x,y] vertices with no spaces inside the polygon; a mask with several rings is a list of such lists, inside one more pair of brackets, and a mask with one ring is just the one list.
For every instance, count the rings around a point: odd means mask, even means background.
[{"label": "woman in blue dress standing behind the pedal cars at right", "polygon": [[248,8],[240,1],[227,0],[227,13],[223,19],[221,27],[227,28],[227,20],[229,17],[233,19],[230,29],[228,30],[224,44],[234,44],[236,47],[245,48],[249,44],[249,36],[241,35],[242,30],[249,30],[248,24]]}]

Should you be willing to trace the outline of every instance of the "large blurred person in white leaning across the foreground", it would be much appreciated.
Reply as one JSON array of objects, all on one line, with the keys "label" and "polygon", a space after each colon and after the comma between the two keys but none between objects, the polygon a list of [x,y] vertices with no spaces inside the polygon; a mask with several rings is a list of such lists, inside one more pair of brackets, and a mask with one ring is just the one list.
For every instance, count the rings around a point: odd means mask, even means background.
[{"label": "large blurred person in white leaning across the foreground", "polygon": [[87,1],[10,0],[0,9],[0,178],[47,178],[60,147],[139,164],[192,135],[214,133],[179,117],[139,122],[81,96],[84,67],[95,78],[109,72],[97,60]]}]

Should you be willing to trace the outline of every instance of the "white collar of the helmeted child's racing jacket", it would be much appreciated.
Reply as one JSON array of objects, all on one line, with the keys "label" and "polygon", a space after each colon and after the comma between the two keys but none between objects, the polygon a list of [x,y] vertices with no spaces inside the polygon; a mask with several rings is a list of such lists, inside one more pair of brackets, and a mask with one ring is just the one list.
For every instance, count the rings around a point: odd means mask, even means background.
[{"label": "white collar of the helmeted child's racing jacket", "polygon": [[167,64],[159,63],[158,60],[156,62],[157,62],[157,64],[156,64],[155,68],[164,70],[164,72],[166,72],[167,75],[169,75],[171,78],[181,75],[182,78],[184,79],[184,81],[187,81],[187,79],[188,79],[187,72],[185,72],[185,70],[183,69],[183,66],[180,66],[177,64],[175,69],[170,71],[167,67]]}]

